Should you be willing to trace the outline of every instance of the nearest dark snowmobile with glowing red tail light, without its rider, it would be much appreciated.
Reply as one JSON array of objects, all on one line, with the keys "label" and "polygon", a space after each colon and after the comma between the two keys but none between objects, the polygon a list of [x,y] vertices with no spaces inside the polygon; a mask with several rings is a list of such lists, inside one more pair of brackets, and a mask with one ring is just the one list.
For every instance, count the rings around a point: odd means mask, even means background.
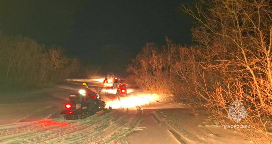
[{"label": "nearest dark snowmobile with glowing red tail light, without its rider", "polygon": [[85,103],[83,102],[84,97],[80,94],[71,94],[69,95],[70,102],[65,104],[65,110],[61,114],[65,114],[64,119],[76,120],[91,116],[102,109],[110,112],[112,108],[104,108],[106,106],[105,102],[97,97],[96,95],[91,96],[88,98],[88,102]]}]

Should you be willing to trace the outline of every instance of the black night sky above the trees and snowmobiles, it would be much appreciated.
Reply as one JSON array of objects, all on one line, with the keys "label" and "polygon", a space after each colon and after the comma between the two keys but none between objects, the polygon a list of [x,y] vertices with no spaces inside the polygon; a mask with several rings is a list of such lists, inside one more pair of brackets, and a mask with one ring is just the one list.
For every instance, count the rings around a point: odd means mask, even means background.
[{"label": "black night sky above the trees and snowmobiles", "polygon": [[[0,32],[62,46],[104,71],[124,69],[147,42],[190,44],[190,0],[0,0]],[[115,69],[115,70],[113,70]]]}]

